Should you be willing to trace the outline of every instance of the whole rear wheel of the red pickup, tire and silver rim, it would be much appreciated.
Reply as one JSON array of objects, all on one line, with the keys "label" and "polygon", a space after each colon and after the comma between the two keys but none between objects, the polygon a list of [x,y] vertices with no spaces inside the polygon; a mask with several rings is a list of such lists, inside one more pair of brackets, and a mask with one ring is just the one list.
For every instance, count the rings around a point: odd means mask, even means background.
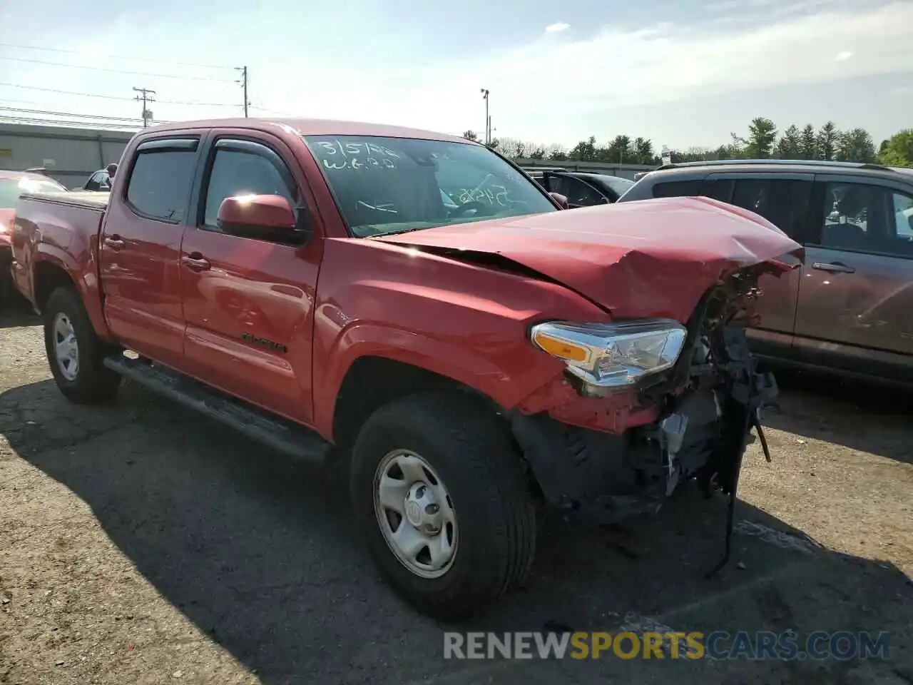
[{"label": "whole rear wheel of the red pickup, tire and silver rim", "polygon": [[60,392],[79,404],[116,395],[121,376],[103,364],[110,346],[100,341],[79,293],[72,287],[54,290],[44,317],[47,363]]}]

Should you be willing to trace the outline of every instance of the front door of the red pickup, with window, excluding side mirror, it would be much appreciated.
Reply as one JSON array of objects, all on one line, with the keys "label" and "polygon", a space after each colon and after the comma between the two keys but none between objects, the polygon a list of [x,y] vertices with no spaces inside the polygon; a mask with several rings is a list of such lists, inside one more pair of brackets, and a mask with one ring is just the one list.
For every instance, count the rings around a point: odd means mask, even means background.
[{"label": "front door of the red pickup, with window, excluding side mirror", "polygon": [[[302,147],[303,147],[302,142]],[[195,226],[184,234],[184,354],[191,373],[278,414],[310,423],[314,289],[322,243],[236,237],[216,227],[233,195],[310,203],[295,156],[278,140],[215,132]]]}]

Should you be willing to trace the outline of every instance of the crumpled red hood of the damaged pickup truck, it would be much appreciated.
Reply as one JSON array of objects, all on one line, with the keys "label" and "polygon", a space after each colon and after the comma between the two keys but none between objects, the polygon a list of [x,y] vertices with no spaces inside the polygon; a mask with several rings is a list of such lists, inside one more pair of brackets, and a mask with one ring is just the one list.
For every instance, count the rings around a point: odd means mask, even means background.
[{"label": "crumpled red hood of the damaged pickup truck", "polygon": [[804,258],[803,248],[770,221],[707,197],[584,207],[374,239],[497,254],[616,317],[682,322],[720,278],[788,254]]}]

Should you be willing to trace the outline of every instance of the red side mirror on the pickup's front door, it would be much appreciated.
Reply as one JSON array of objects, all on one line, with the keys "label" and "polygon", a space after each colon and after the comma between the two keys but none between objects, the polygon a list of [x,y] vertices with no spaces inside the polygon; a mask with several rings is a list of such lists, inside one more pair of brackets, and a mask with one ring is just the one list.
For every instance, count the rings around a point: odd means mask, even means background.
[{"label": "red side mirror on the pickup's front door", "polygon": [[226,197],[219,205],[216,227],[229,236],[299,242],[294,240],[298,232],[295,212],[282,195]]}]

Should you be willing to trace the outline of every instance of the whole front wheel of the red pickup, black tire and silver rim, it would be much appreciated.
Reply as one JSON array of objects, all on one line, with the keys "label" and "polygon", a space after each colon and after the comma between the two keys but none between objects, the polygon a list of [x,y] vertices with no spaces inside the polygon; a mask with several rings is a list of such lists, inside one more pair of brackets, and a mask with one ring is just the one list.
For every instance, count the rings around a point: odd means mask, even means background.
[{"label": "whole front wheel of the red pickup, black tire and silver rim", "polygon": [[529,573],[529,481],[497,417],[466,398],[413,395],[378,409],[352,450],[350,489],[375,561],[425,614],[477,614]]}]

